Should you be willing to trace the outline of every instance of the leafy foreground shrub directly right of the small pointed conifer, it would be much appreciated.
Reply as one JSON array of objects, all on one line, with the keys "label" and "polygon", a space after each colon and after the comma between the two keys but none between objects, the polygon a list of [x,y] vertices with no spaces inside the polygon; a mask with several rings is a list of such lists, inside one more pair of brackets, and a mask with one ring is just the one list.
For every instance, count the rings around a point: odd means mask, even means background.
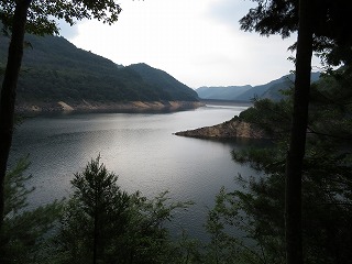
[{"label": "leafy foreground shrub directly right of the small pointed conifer", "polygon": [[122,263],[177,263],[182,257],[164,224],[175,210],[185,209],[189,202],[169,202],[167,194],[152,200],[139,193],[130,196],[129,221],[117,252]]}]

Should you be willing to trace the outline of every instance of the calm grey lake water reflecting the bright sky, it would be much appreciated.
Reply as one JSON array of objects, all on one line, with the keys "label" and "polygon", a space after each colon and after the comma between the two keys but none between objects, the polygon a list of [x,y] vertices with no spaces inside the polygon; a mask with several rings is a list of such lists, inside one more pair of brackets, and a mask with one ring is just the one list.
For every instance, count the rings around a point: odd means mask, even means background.
[{"label": "calm grey lake water reflecting the bright sky", "polygon": [[[28,183],[35,186],[32,207],[68,197],[70,180],[99,154],[109,170],[119,175],[122,189],[152,198],[169,190],[173,200],[193,200],[188,211],[173,221],[204,237],[208,208],[222,186],[238,188],[234,176],[255,172],[232,161],[231,151],[248,141],[210,141],[173,133],[218,124],[246,109],[243,106],[207,106],[173,113],[67,113],[30,118],[18,127],[10,164],[30,154]],[[175,231],[176,232],[176,231]]]}]

